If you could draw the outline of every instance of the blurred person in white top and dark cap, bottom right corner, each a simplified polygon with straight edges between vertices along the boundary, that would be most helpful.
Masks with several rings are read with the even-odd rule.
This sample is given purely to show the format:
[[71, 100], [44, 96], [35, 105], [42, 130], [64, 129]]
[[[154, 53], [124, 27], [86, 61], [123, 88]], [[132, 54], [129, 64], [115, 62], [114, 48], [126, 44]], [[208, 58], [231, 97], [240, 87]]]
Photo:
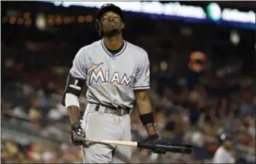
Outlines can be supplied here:
[[215, 152], [213, 163], [235, 163], [233, 158], [231, 136], [222, 134], [220, 137], [222, 145]]

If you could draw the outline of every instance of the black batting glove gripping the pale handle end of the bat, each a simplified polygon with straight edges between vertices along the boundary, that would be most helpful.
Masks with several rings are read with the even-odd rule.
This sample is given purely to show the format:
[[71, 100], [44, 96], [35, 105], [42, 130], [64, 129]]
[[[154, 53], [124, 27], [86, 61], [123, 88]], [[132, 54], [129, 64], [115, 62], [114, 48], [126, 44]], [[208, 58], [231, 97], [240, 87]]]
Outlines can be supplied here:
[[77, 122], [77, 123], [73, 123], [71, 125], [71, 141], [73, 144], [75, 145], [84, 145], [86, 144], [86, 142], [84, 141], [84, 139], [86, 138], [86, 134], [84, 132], [84, 130], [81, 127], [81, 123]]

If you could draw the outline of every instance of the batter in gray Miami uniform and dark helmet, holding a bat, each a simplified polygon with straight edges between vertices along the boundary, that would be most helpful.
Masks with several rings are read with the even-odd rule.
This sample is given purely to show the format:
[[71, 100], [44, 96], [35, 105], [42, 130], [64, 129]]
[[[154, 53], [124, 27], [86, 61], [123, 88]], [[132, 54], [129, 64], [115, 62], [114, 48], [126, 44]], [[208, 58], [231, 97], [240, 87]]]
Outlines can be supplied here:
[[[165, 143], [156, 132], [150, 97], [150, 62], [147, 52], [123, 39], [122, 10], [104, 4], [96, 13], [96, 30], [103, 39], [81, 47], [69, 72], [62, 104], [71, 122], [71, 139], [81, 145], [85, 163], [129, 162], [132, 149], [125, 146], [80, 142], [96, 140], [131, 141], [133, 102], [149, 141]], [[79, 120], [78, 97], [87, 84], [87, 108]], [[165, 153], [165, 150], [152, 150]]]

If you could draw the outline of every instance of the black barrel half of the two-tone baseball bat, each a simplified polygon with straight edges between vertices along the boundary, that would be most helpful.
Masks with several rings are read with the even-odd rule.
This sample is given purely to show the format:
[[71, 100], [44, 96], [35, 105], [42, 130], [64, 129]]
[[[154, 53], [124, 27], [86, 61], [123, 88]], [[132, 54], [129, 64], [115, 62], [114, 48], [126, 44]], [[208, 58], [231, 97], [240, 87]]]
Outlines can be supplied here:
[[144, 149], [163, 149], [165, 151], [191, 154], [193, 147], [191, 145], [183, 144], [154, 144], [151, 142], [138, 142], [138, 147]]

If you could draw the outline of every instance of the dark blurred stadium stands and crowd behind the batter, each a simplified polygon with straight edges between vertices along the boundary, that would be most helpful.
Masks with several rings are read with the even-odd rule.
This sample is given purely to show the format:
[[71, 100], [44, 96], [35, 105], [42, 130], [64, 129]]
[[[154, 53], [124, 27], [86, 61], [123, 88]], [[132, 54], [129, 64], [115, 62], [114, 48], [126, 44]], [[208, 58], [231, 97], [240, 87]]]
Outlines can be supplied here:
[[[82, 161], [79, 147], [69, 142], [69, 118], [60, 99], [78, 48], [99, 39], [93, 22], [96, 8], [57, 4], [1, 2], [2, 162]], [[123, 33], [149, 52], [151, 100], [160, 134], [193, 144], [195, 153], [154, 160], [149, 151], [134, 149], [133, 162], [211, 161], [224, 132], [233, 135], [236, 160], [252, 163], [255, 20], [245, 23], [241, 16], [225, 22], [209, 2], [181, 4], [201, 7], [206, 18], [125, 12]], [[253, 2], [217, 4], [221, 10], [255, 10]], [[185, 14], [182, 9], [178, 13]], [[84, 94], [80, 102], [86, 106]], [[133, 140], [145, 134], [134, 110]]]

